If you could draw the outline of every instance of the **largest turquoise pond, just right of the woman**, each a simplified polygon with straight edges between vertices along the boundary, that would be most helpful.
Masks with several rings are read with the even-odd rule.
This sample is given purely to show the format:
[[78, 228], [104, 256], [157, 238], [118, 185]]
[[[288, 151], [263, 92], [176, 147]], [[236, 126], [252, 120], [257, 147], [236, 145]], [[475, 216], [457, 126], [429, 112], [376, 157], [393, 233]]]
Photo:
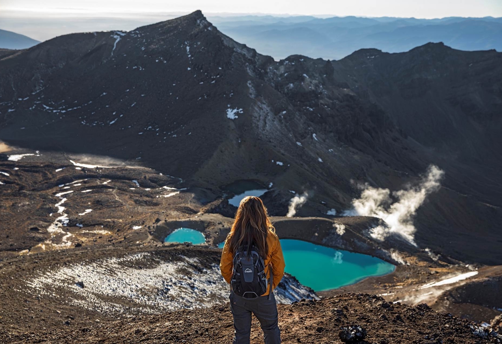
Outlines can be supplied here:
[[286, 272], [315, 291], [336, 289], [369, 276], [382, 276], [395, 266], [361, 253], [335, 250], [302, 240], [281, 239]]

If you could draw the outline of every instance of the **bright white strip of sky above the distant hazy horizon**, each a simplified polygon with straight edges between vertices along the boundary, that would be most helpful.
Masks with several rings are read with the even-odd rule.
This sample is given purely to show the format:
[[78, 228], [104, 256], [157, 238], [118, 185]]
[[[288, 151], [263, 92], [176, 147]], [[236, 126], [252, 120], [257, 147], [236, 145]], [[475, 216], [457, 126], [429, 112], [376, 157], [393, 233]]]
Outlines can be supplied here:
[[441, 18], [502, 16], [500, 0], [0, 0], [3, 9], [40, 12], [203, 12], [275, 13], [371, 17]]

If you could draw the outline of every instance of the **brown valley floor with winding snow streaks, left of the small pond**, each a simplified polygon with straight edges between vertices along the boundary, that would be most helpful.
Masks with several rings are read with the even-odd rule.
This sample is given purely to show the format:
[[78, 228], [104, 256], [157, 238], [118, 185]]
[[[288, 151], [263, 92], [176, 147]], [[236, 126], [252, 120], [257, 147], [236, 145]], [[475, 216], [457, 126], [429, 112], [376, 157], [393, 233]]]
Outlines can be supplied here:
[[134, 162], [94, 158], [90, 165], [84, 156], [63, 153], [10, 155], [22, 154], [31, 155], [17, 161], [0, 156], [4, 253], [147, 241], [150, 224], [194, 215], [204, 196], [215, 197], [209, 190], [199, 196], [179, 178]]

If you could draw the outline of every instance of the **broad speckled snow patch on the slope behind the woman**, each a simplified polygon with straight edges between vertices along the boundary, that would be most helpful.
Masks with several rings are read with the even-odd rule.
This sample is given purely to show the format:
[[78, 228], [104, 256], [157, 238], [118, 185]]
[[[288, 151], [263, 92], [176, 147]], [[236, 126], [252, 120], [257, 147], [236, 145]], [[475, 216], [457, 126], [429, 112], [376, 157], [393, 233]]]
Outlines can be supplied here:
[[[143, 266], [140, 268], [139, 266]], [[189, 274], [180, 271], [190, 271]], [[76, 285], [83, 282], [84, 288]], [[39, 270], [25, 279], [28, 293], [51, 297], [84, 309], [121, 318], [138, 313], [211, 307], [228, 302], [227, 283], [218, 264], [179, 255], [140, 252]], [[286, 274], [275, 290], [279, 303], [318, 299], [311, 289]], [[132, 300], [126, 306], [115, 300]]]

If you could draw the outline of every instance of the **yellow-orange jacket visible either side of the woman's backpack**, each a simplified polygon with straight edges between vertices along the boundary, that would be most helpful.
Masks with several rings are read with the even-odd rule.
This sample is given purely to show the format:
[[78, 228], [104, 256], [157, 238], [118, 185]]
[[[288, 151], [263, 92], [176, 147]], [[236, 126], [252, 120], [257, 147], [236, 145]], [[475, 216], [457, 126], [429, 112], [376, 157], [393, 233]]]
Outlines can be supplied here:
[[[267, 278], [270, 278], [270, 264], [272, 264], [272, 272], [274, 274], [274, 280], [272, 282], [272, 288], [275, 289], [281, 278], [284, 275], [284, 267], [286, 263], [284, 262], [284, 256], [282, 254], [281, 242], [276, 234], [270, 234], [267, 236], [267, 243], [269, 244], [269, 253], [267, 258], [264, 259], [265, 262], [265, 272]], [[233, 253], [230, 252], [228, 247], [228, 242], [225, 242], [223, 247], [223, 252], [221, 253], [220, 270], [221, 275], [227, 283], [230, 283], [232, 279], [232, 269], [233, 269]], [[262, 296], [268, 295], [270, 288]]]

